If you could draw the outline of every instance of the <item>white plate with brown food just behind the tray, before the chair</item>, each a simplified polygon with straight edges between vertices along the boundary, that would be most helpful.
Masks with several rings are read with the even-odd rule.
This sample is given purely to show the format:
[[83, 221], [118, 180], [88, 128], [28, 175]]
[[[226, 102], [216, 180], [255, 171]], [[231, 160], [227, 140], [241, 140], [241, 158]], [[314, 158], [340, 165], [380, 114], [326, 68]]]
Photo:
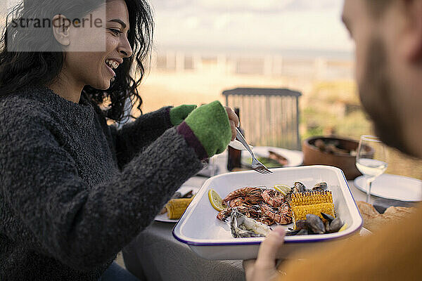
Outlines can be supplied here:
[[[252, 149], [253, 153], [256, 157], [268, 157], [269, 156], [269, 150], [274, 151], [276, 153], [279, 153], [279, 155], [285, 157], [287, 159], [287, 165], [283, 167], [288, 166], [300, 166], [303, 162], [303, 152], [298, 150], [288, 150], [285, 148], [274, 148], [271, 146], [255, 146], [255, 148]], [[250, 166], [251, 157], [248, 151], [242, 152], [242, 164], [244, 166]]]

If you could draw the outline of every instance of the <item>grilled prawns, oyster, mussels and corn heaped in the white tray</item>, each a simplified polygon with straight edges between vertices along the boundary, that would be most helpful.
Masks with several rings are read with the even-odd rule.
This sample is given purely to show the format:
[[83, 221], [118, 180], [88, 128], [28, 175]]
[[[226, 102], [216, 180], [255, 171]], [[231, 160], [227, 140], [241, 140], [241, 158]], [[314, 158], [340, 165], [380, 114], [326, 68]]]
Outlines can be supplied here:
[[247, 186], [230, 192], [221, 203], [224, 209], [217, 218], [229, 221], [230, 217], [231, 234], [236, 238], [265, 236], [274, 223], [293, 223], [286, 235], [334, 233], [343, 226], [335, 218], [333, 195], [326, 183], [316, 183], [312, 189], [300, 182], [292, 188]]

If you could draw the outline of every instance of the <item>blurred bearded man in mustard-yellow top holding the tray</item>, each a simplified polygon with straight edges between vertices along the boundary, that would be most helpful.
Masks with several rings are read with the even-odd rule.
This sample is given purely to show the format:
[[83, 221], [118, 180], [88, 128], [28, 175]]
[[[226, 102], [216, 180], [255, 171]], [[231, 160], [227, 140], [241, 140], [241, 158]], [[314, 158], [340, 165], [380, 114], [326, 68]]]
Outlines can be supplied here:
[[[422, 157], [422, 0], [345, 0], [343, 22], [356, 44], [359, 96], [377, 135]], [[276, 228], [257, 260], [244, 262], [248, 281], [421, 278], [421, 205], [375, 235], [315, 250], [300, 262], [293, 256], [277, 270], [283, 237], [284, 231]]]

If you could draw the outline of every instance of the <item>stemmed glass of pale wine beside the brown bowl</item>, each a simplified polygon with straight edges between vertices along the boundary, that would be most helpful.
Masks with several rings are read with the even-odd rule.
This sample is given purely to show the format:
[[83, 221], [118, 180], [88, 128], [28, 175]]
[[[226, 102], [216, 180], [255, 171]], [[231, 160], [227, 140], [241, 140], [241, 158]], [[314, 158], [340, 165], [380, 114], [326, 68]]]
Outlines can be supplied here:
[[369, 203], [371, 197], [373, 181], [387, 169], [387, 158], [387, 148], [377, 136], [361, 136], [356, 154], [356, 167], [366, 178], [366, 203]]

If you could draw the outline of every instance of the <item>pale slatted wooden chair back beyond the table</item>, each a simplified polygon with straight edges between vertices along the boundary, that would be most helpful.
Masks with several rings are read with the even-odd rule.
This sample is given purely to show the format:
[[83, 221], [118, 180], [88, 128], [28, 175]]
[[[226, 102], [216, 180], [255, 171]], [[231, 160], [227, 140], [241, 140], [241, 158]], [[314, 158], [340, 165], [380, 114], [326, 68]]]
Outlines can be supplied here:
[[246, 140], [255, 146], [301, 150], [299, 97], [289, 89], [236, 88], [223, 91], [226, 105], [238, 107]]

